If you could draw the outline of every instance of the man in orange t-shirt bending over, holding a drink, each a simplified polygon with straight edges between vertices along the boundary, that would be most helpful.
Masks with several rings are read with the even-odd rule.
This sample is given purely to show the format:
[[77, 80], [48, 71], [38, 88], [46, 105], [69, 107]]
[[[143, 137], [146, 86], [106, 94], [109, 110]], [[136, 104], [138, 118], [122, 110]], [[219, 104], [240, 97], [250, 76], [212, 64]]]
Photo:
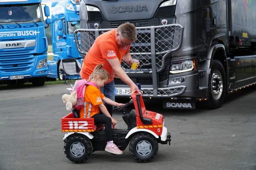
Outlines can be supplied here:
[[[112, 72], [130, 86], [130, 92], [139, 92], [140, 90], [128, 75], [121, 68], [122, 60], [132, 65], [132, 57], [130, 55], [130, 45], [137, 39], [137, 30], [132, 23], [124, 23], [119, 25], [117, 29], [113, 29], [103, 33], [96, 38], [94, 44], [84, 58], [84, 63], [80, 71], [82, 79], [89, 79], [90, 74], [97, 64], [104, 64], [103, 68], [108, 71], [110, 80], [100, 88], [100, 91], [111, 100], [115, 101], [115, 85]], [[138, 63], [139, 65], [139, 63]]]

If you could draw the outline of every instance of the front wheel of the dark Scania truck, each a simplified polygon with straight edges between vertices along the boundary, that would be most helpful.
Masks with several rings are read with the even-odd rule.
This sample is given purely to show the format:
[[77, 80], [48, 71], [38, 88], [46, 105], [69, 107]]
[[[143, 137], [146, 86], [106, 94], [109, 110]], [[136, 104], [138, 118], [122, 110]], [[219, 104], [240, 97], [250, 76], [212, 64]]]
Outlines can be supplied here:
[[218, 60], [212, 61], [210, 72], [210, 87], [207, 105], [211, 109], [219, 108], [225, 98], [226, 93], [226, 76], [225, 71]]

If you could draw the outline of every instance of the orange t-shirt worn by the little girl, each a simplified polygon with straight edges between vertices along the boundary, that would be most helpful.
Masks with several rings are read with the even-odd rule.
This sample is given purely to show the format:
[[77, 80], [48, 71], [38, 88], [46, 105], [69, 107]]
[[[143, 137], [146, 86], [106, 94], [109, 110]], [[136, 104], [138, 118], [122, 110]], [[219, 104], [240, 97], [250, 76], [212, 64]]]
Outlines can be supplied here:
[[80, 109], [80, 118], [90, 118], [100, 112], [99, 104], [102, 104], [102, 98], [105, 96], [100, 92], [99, 88], [87, 84], [84, 92], [84, 102], [86, 103], [86, 114], [84, 116], [84, 107]]

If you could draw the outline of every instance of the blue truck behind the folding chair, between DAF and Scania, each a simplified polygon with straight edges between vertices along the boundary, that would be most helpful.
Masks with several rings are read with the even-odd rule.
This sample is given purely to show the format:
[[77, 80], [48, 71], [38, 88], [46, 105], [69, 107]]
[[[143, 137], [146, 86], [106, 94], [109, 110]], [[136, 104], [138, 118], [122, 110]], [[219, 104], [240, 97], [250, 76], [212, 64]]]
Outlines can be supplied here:
[[81, 61], [76, 49], [74, 31], [80, 28], [79, 0], [52, 2], [52, 51], [53, 61], [48, 61], [49, 78], [63, 79], [60, 61], [74, 58]]

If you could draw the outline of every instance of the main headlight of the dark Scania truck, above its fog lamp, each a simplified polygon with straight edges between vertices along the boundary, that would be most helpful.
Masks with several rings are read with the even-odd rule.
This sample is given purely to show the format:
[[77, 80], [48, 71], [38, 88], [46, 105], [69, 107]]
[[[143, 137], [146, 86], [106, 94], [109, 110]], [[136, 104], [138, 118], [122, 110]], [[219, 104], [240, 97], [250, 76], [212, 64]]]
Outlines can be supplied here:
[[180, 73], [196, 70], [195, 60], [185, 60], [171, 63], [170, 73]]

